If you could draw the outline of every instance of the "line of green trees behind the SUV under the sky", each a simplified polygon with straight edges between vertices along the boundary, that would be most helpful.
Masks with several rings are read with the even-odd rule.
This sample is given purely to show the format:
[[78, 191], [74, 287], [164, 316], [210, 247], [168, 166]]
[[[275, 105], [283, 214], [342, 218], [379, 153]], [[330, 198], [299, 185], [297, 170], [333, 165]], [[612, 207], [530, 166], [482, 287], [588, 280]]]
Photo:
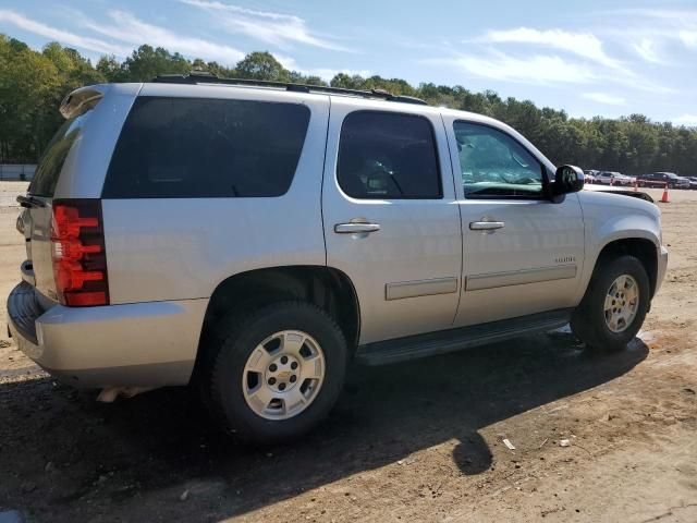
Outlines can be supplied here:
[[[318, 76], [289, 71], [269, 52], [252, 52], [227, 68], [144, 45], [123, 61], [101, 57], [93, 63], [74, 49], [51, 42], [39, 51], [0, 34], [0, 162], [35, 162], [62, 122], [58, 107], [72, 89], [103, 82], [147, 82], [159, 74], [206, 71], [219, 76], [328, 85]], [[501, 98], [492, 90], [375, 75], [337, 74], [332, 87], [386, 89], [501, 120], [533, 142], [555, 163], [640, 174], [672, 171], [697, 175], [697, 129], [652, 122], [643, 114], [620, 119], [570, 118], [563, 110], [530, 100]]]

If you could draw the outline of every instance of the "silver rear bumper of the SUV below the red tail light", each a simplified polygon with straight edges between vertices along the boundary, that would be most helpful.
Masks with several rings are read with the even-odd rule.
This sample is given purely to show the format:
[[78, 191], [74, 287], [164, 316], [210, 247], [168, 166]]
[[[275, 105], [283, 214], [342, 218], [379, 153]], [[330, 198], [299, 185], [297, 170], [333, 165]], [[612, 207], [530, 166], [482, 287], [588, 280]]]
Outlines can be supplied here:
[[8, 299], [12, 337], [28, 357], [76, 387], [188, 382], [208, 300], [44, 311], [22, 282]]

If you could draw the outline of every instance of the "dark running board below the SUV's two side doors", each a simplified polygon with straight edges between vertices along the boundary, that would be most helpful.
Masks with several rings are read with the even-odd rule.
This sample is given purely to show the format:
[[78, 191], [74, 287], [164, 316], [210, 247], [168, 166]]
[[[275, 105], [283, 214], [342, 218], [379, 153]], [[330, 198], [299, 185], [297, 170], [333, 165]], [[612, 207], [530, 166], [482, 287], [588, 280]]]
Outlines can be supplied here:
[[573, 311], [573, 308], [561, 308], [488, 324], [367, 343], [358, 345], [356, 361], [365, 365], [384, 365], [486, 345], [522, 335], [546, 332], [568, 324]]

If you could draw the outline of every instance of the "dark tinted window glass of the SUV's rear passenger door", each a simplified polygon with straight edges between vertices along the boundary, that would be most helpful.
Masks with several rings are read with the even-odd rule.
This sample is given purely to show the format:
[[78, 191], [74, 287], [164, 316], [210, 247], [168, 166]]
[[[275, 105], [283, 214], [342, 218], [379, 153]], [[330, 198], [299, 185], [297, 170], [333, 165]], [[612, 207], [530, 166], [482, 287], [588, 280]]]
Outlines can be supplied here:
[[337, 177], [354, 198], [442, 197], [430, 122], [388, 112], [348, 114], [341, 127]]

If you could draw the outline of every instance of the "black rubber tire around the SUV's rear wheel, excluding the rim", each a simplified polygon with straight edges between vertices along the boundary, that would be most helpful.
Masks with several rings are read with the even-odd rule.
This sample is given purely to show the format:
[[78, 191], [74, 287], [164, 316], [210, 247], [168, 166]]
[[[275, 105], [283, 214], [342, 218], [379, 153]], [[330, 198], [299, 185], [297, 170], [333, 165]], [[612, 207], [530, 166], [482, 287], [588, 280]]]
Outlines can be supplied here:
[[[207, 388], [216, 421], [240, 440], [274, 443], [297, 438], [314, 428], [333, 408], [343, 387], [347, 362], [346, 340], [337, 323], [319, 307], [305, 302], [281, 302], [222, 319], [218, 346], [211, 358]], [[243, 392], [243, 374], [256, 346], [282, 330], [311, 336], [325, 356], [325, 378], [313, 402], [288, 419], [268, 419], [255, 413]]]

